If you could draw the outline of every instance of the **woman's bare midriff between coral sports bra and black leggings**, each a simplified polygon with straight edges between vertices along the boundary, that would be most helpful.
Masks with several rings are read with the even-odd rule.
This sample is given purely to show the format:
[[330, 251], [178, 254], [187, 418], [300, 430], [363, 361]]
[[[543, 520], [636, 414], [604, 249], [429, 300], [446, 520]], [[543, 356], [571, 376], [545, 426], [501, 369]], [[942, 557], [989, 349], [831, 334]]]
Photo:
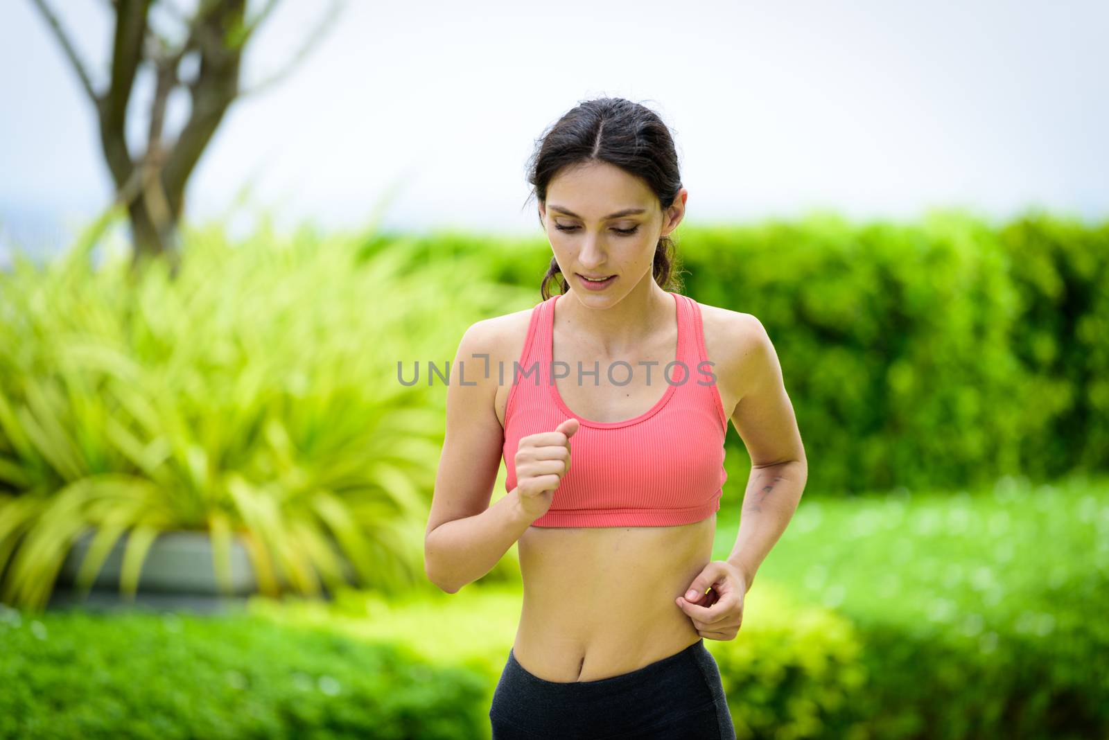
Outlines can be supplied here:
[[712, 558], [716, 515], [664, 527], [536, 527], [520, 536], [512, 655], [548, 681], [620, 676], [701, 635], [674, 599]]

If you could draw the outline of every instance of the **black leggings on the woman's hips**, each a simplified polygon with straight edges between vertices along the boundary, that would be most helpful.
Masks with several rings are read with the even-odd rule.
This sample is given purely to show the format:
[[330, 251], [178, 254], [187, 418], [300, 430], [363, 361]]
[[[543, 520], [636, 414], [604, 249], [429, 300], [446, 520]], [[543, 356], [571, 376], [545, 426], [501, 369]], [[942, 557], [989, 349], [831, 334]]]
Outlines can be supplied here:
[[596, 681], [548, 681], [512, 650], [489, 708], [492, 740], [735, 740], [720, 668], [699, 639], [681, 652]]

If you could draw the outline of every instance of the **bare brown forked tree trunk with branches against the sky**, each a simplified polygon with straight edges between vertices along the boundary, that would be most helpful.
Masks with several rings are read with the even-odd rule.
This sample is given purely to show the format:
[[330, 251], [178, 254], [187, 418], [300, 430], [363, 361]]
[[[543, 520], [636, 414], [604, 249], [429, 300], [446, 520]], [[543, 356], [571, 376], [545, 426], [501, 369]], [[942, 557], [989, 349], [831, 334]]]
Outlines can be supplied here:
[[[296, 54], [276, 74], [245, 92], [240, 80], [244, 48], [281, 0], [265, 0], [250, 18], [247, 0], [195, 0], [187, 14], [176, 0], [101, 0], [114, 14], [110, 76], [102, 94], [93, 89], [88, 69], [49, 1], [32, 0], [92, 99], [104, 160], [116, 188], [114, 202], [126, 206], [131, 220], [135, 261], [165, 254], [175, 264], [185, 186], [228, 107], [238, 97], [256, 94], [288, 75], [323, 40], [347, 0], [332, 0]], [[184, 80], [181, 63], [192, 54], [197, 56], [196, 72]], [[126, 137], [129, 110], [133, 107], [129, 103], [144, 63], [154, 68], [155, 89], [145, 151], [132, 155]], [[165, 142], [170, 97], [177, 89], [189, 92], [189, 119], [176, 138]]]

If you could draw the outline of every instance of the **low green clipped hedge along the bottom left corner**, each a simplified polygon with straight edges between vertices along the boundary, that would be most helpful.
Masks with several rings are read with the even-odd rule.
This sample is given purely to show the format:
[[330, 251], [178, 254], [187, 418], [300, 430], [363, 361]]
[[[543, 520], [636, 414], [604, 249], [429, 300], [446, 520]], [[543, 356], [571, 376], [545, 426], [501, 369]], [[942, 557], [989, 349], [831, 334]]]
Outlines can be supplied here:
[[[0, 607], [3, 608], [3, 607]], [[0, 618], [0, 737], [478, 737], [486, 679], [265, 619]]]

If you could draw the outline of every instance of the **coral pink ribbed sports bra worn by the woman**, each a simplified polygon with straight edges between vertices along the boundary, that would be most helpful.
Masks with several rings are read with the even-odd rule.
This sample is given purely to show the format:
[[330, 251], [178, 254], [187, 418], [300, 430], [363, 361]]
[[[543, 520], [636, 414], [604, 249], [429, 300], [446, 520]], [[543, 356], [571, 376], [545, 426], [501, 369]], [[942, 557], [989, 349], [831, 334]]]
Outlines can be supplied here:
[[[650, 367], [650, 382], [667, 383], [649, 410], [624, 421], [599, 422], [579, 417], [562, 401], [552, 380], [554, 295], [531, 310], [519, 368], [505, 408], [502, 459], [506, 491], [516, 487], [516, 451], [529, 434], [553, 431], [573, 418], [581, 426], [570, 440], [571, 464], [550, 510], [535, 520], [540, 527], [674, 526], [700, 522], [720, 508], [728, 472], [724, 438], [728, 417], [713, 367], [706, 363], [701, 307], [676, 292], [678, 353], [673, 361]], [[702, 364], [704, 362], [704, 364]], [[614, 366], [615, 380], [628, 366]], [[645, 366], [634, 369], [641, 373]], [[563, 382], [578, 382], [578, 368], [560, 361], [553, 368]], [[597, 374], [584, 374], [597, 370]], [[599, 382], [609, 368], [582, 363], [582, 382]]]

